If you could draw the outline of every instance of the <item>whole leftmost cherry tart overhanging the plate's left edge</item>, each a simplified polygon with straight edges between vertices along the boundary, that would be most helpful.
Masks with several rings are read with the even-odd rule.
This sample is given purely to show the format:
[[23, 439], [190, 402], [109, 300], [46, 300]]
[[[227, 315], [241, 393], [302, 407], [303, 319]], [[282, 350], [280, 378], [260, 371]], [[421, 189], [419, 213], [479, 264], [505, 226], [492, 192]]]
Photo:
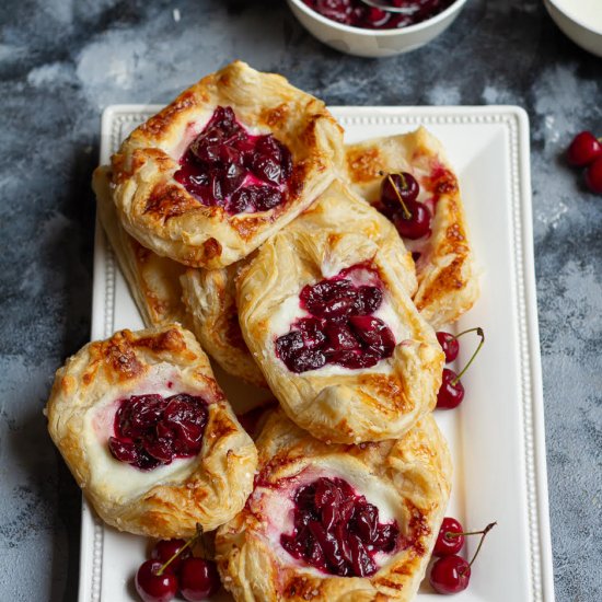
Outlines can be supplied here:
[[181, 537], [234, 517], [257, 452], [194, 336], [172, 325], [90, 343], [57, 371], [48, 430], [100, 517]]

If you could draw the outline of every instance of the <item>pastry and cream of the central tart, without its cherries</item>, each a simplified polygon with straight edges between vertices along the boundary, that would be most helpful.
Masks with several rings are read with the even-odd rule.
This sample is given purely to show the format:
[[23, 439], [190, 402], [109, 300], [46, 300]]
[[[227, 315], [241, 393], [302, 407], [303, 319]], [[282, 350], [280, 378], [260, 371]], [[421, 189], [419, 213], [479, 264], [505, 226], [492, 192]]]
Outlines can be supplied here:
[[[392, 357], [361, 370], [326, 364], [289, 371], [275, 348], [294, 319], [287, 308], [298, 310], [305, 285], [364, 262], [385, 289], [383, 305], [396, 331]], [[319, 439], [357, 443], [400, 437], [435, 407], [443, 354], [409, 298], [413, 281], [413, 266], [391, 224], [340, 182], [262, 246], [238, 279], [239, 320], [291, 420]]]

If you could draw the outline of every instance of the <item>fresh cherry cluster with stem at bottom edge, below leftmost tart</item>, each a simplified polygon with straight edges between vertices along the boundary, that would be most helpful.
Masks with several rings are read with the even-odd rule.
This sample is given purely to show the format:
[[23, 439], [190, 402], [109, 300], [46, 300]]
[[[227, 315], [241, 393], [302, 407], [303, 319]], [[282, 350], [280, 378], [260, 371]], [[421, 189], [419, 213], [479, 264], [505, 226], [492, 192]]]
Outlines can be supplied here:
[[202, 531], [188, 540], [162, 540], [136, 574], [136, 591], [143, 602], [170, 602], [180, 591], [188, 602], [206, 600], [221, 586], [216, 563], [193, 556], [192, 547], [202, 541]]

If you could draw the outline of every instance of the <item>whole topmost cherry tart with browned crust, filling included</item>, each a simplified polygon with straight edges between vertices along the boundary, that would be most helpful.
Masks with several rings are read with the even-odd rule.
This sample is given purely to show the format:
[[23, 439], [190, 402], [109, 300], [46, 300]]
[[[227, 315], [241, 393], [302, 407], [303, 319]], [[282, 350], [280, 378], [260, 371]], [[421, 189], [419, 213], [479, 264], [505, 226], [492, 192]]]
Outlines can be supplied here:
[[218, 268], [294, 219], [343, 169], [324, 103], [232, 62], [136, 129], [113, 159], [126, 230], [159, 255]]

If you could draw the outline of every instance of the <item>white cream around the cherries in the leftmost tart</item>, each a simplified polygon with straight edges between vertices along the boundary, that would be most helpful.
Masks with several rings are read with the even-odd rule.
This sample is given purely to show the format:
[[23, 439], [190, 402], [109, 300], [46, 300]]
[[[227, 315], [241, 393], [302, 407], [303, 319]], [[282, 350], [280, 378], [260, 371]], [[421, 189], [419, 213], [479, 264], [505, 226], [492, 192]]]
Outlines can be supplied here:
[[169, 397], [177, 393], [194, 394], [178, 380], [173, 366], [159, 363], [143, 382], [136, 383], [135, 387], [117, 398], [114, 392], [108, 393], [86, 412], [82, 437], [90, 463], [91, 486], [107, 491], [119, 502], [137, 497], [154, 485], [185, 479], [194, 472], [198, 456], [176, 459], [152, 471], [140, 471], [113, 458], [108, 449], [108, 438], [115, 435], [115, 414], [123, 400], [131, 395], [159, 394]]

